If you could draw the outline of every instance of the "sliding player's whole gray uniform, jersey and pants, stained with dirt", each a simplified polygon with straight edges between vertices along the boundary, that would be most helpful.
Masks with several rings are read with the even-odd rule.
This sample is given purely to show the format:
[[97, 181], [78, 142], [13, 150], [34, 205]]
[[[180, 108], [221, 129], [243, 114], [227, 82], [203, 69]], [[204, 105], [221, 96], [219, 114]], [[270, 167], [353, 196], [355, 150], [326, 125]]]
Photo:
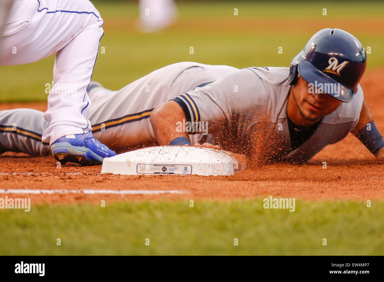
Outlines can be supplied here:
[[[246, 68], [176, 63], [153, 71], [119, 91], [90, 91], [89, 111], [97, 139], [117, 152], [157, 145], [149, 121], [152, 109], [170, 99], [182, 101], [191, 122], [206, 122], [208, 135], [193, 135], [191, 143], [210, 142], [244, 153], [254, 132], [261, 152], [272, 160], [309, 160], [328, 144], [343, 139], [357, 124], [362, 107], [361, 87], [351, 102], [325, 116], [313, 135], [292, 149], [286, 107], [289, 68]], [[214, 81], [214, 82], [212, 82]], [[212, 82], [204, 87], [207, 82]], [[196, 88], [197, 87], [197, 88]], [[176, 98], [175, 98], [176, 97]], [[41, 142], [48, 123], [32, 109], [0, 111], [0, 150], [50, 154]], [[199, 128], [199, 127], [197, 127]]]

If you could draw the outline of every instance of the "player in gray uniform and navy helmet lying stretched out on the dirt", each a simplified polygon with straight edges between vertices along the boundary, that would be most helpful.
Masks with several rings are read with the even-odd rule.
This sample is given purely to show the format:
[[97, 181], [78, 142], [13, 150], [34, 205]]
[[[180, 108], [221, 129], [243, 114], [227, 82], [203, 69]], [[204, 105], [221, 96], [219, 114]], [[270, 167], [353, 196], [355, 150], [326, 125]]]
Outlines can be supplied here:
[[[183, 62], [119, 91], [92, 82], [89, 120], [95, 137], [118, 152], [194, 144], [253, 160], [303, 162], [352, 132], [384, 162], [384, 140], [358, 84], [365, 68], [361, 43], [327, 28], [290, 68]], [[0, 111], [0, 150], [48, 155], [48, 144], [41, 142], [47, 126], [37, 110]]]

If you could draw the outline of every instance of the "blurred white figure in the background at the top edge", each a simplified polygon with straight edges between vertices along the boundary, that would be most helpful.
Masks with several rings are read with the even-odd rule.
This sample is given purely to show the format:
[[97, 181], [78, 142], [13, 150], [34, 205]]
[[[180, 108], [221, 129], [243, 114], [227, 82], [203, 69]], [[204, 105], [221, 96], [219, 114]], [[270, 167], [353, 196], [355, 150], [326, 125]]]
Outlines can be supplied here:
[[142, 32], [156, 32], [170, 26], [177, 17], [173, 0], [140, 0], [140, 23]]

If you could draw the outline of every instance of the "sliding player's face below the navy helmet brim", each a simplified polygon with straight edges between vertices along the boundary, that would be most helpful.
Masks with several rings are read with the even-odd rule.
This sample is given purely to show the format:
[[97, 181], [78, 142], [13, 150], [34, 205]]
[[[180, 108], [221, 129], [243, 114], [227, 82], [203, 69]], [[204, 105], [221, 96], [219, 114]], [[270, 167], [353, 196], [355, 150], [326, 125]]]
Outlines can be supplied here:
[[298, 81], [293, 87], [293, 97], [295, 98], [300, 114], [306, 120], [319, 120], [324, 117], [324, 115], [333, 113], [341, 105], [342, 101], [329, 94], [310, 91], [308, 84], [305, 79], [299, 76]]

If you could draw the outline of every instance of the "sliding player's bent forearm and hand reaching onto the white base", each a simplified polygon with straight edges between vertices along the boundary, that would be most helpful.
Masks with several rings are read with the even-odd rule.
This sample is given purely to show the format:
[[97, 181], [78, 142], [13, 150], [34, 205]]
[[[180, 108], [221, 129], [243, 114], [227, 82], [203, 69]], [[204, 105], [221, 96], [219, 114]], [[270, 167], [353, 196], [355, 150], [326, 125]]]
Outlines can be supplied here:
[[[188, 132], [180, 130], [185, 124], [184, 110], [175, 101], [168, 101], [157, 106], [151, 113], [149, 120], [159, 145], [185, 145], [190, 146]], [[184, 120], [184, 122], [183, 122]], [[181, 125], [181, 126], [180, 126]], [[196, 147], [209, 147], [219, 149], [209, 143], [194, 144]]]

